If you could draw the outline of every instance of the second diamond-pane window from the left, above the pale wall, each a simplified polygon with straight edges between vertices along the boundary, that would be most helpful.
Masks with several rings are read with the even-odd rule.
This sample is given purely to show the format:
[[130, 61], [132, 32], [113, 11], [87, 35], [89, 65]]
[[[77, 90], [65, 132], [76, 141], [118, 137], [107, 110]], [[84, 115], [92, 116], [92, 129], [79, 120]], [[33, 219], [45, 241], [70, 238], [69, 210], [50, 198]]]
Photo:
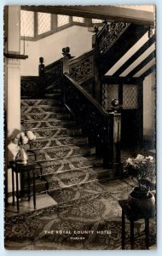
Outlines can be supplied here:
[[50, 31], [50, 14], [38, 13], [38, 35]]

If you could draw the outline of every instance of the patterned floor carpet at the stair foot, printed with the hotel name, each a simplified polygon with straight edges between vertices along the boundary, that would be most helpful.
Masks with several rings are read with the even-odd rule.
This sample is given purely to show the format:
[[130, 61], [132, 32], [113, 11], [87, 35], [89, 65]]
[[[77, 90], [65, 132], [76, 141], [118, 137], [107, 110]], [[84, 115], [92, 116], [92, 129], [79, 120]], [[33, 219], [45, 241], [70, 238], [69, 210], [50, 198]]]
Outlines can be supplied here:
[[[57, 206], [6, 218], [5, 247], [10, 250], [120, 250], [121, 208], [118, 200], [127, 198], [131, 184], [116, 180], [107, 188], [100, 185], [98, 190], [94, 184], [92, 187], [84, 184], [82, 191], [87, 195], [84, 198], [79, 189], [69, 190], [67, 197]], [[61, 194], [55, 196], [61, 197]], [[67, 202], [68, 196], [78, 200]], [[155, 231], [152, 219], [150, 246], [156, 243]], [[146, 249], [142, 220], [135, 223], [135, 248]], [[125, 249], [130, 249], [128, 220]]]

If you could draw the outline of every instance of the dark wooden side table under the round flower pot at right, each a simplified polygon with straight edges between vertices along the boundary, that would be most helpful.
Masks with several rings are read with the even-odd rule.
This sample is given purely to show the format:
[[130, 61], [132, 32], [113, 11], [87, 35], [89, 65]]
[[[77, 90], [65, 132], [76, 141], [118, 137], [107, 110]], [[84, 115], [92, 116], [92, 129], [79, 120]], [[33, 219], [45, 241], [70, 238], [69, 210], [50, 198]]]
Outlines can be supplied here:
[[140, 218], [145, 220], [145, 235], [146, 235], [146, 247], [149, 248], [149, 218], [155, 216], [155, 207], [150, 209], [149, 212], [132, 207], [130, 201], [119, 200], [119, 206], [122, 208], [122, 250], [124, 250], [125, 241], [125, 216], [130, 220], [130, 249], [134, 249], [134, 222]]

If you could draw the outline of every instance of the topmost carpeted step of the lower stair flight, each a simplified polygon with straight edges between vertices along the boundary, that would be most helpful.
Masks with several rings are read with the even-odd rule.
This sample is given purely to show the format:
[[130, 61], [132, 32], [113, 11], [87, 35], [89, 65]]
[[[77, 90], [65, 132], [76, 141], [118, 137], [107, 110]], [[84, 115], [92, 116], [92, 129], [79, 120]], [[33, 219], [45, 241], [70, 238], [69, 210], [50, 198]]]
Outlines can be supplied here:
[[21, 100], [20, 101], [20, 107], [41, 107], [41, 106], [60, 106], [61, 101], [55, 101], [55, 100], [47, 100], [47, 99], [26, 99], [26, 100]]

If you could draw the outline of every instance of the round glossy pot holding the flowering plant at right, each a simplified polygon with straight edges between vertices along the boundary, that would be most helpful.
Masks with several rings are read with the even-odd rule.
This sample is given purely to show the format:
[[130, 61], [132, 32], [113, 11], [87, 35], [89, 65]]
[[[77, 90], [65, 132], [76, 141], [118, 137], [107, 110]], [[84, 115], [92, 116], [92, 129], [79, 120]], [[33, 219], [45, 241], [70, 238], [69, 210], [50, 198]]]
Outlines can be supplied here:
[[136, 212], [155, 212], [155, 197], [148, 189], [141, 190], [139, 187], [134, 188], [128, 200]]

